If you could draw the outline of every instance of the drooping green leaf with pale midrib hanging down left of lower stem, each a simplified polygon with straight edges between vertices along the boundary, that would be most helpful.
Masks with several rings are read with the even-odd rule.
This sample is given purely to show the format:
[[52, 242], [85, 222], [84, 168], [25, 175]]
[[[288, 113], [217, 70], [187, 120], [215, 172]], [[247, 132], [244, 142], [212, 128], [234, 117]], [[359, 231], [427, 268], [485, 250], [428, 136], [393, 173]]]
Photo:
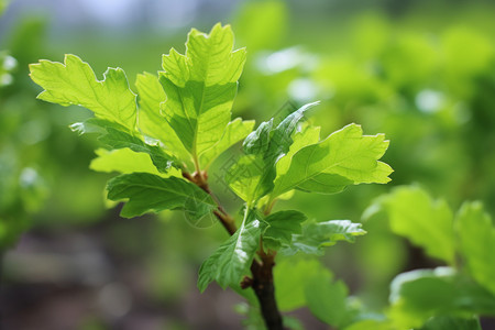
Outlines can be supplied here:
[[212, 280], [226, 288], [238, 285], [248, 274], [260, 246], [260, 235], [265, 224], [246, 209], [238, 231], [221, 244], [199, 268], [198, 288], [202, 293]]

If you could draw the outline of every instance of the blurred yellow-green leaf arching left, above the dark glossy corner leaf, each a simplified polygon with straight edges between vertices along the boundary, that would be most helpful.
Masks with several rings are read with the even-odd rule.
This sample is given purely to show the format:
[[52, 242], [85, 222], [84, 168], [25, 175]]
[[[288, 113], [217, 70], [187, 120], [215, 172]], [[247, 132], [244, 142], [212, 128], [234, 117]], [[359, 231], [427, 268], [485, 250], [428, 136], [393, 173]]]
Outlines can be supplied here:
[[442, 199], [433, 200], [419, 187], [398, 187], [372, 206], [386, 211], [391, 229], [449, 264], [454, 262], [452, 211]]

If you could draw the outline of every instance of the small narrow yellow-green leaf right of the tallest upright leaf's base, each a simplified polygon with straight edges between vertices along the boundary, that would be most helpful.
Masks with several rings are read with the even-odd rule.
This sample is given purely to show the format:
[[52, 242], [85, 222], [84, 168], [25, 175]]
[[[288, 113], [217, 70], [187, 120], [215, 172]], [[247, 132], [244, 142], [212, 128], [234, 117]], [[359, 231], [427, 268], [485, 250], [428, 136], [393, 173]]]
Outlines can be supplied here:
[[222, 138], [210, 148], [206, 150], [200, 156], [199, 162], [202, 164], [204, 168], [208, 168], [209, 165], [226, 150], [231, 147], [233, 144], [238, 143], [244, 139], [253, 130], [253, 120], [242, 120], [240, 118], [231, 121], [223, 133]]

